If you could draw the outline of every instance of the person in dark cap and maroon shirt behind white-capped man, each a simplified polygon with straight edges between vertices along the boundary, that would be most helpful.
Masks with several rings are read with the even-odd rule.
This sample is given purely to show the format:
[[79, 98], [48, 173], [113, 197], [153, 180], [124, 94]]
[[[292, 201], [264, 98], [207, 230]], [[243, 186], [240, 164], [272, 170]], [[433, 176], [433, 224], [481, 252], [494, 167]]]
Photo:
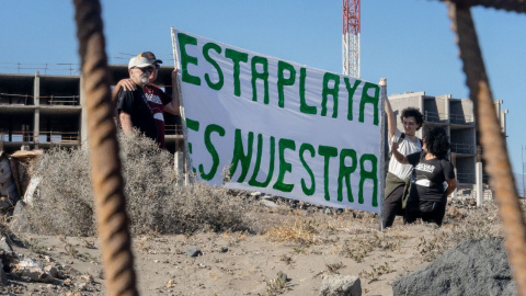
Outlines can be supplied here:
[[[137, 57], [144, 57], [149, 60], [155, 66], [153, 71], [149, 76], [149, 83], [144, 87], [144, 92], [150, 106], [151, 112], [153, 113], [153, 118], [156, 119], [158, 127], [158, 138], [157, 143], [160, 148], [165, 148], [164, 145], [164, 111], [173, 115], [180, 115], [180, 104], [179, 104], [179, 90], [178, 90], [178, 69], [175, 68], [172, 71], [172, 95], [170, 96], [163, 92], [159, 87], [152, 82], [157, 80], [159, 72], [160, 64], [162, 60], [157, 59], [156, 55], [151, 52], [144, 52]], [[134, 91], [136, 89], [136, 83], [132, 79], [122, 79], [118, 81], [117, 86], [113, 90], [113, 96], [122, 89]]]

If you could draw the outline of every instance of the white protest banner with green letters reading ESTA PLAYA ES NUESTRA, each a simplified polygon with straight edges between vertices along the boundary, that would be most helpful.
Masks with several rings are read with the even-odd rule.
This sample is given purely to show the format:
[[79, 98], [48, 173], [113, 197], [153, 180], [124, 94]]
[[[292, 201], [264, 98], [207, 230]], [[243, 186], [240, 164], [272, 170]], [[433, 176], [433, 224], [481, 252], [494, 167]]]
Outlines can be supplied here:
[[172, 27], [194, 172], [231, 189], [380, 213], [380, 88]]

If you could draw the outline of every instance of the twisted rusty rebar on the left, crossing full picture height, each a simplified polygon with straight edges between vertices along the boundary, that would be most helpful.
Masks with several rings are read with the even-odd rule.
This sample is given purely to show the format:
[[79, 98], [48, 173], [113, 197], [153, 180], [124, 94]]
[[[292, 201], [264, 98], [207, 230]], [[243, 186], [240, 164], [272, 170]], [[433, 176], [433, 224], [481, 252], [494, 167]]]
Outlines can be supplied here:
[[107, 295], [138, 295], [111, 105], [101, 4], [98, 0], [73, 0], [73, 3], [106, 292]]

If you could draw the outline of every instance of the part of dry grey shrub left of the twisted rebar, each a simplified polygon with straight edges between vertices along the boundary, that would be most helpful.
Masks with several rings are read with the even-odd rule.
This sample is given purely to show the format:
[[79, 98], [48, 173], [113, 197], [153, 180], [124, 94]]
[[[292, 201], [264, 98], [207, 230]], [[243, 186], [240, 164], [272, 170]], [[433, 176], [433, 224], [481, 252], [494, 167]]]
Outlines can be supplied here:
[[93, 235], [93, 197], [85, 149], [52, 149], [42, 156], [34, 177], [39, 196], [27, 206], [27, 221], [43, 234]]

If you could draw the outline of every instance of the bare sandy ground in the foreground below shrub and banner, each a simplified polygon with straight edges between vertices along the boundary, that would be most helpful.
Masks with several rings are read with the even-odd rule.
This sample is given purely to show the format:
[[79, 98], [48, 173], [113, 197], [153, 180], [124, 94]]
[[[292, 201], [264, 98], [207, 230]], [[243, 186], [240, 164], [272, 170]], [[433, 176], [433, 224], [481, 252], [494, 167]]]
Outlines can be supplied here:
[[[359, 276], [363, 295], [392, 295], [397, 277], [428, 264], [425, 255], [433, 246], [466, 223], [446, 218], [437, 228], [403, 226], [397, 218], [393, 228], [379, 231], [377, 216], [356, 213], [293, 212], [281, 205], [259, 213], [262, 224], [283, 226], [266, 235], [134, 237], [140, 295], [319, 295], [323, 277], [334, 274]], [[8, 275], [5, 293], [104, 295], [96, 238], [28, 234], [18, 238], [25, 247], [14, 243], [15, 252], [43, 265], [54, 262], [64, 275], [52, 284]], [[202, 255], [190, 257], [186, 249], [191, 246]]]

